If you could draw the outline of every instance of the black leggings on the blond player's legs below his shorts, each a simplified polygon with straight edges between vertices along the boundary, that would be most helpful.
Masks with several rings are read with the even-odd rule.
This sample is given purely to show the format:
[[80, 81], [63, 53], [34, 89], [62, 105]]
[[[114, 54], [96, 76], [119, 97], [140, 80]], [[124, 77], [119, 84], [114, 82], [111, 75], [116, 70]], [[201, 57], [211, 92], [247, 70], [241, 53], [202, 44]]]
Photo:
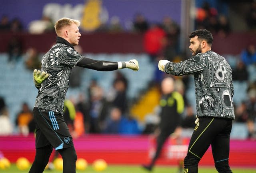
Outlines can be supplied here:
[[[76, 173], [76, 151], [74, 146], [57, 150], [63, 159], [63, 173]], [[29, 173], [42, 173], [46, 167], [52, 146], [47, 145], [36, 149], [36, 156]]]

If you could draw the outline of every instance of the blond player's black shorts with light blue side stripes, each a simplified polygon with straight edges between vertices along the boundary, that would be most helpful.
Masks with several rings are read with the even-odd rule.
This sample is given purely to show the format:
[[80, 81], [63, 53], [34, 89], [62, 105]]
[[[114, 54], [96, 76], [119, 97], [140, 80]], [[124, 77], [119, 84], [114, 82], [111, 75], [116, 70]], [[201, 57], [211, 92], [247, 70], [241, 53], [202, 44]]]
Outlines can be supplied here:
[[55, 149], [74, 146], [68, 126], [62, 114], [34, 108], [36, 123], [36, 148], [52, 145]]

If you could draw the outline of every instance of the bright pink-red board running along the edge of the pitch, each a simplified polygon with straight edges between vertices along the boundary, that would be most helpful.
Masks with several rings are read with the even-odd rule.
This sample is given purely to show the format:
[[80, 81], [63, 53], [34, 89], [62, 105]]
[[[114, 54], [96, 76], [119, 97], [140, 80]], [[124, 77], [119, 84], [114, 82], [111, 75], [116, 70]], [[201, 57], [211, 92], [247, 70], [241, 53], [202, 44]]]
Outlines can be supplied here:
[[[19, 157], [33, 161], [35, 155], [34, 135], [2, 136], [0, 151], [11, 162]], [[188, 147], [188, 138], [169, 140], [164, 145], [158, 159], [159, 165], [176, 165], [183, 160]], [[78, 158], [84, 158], [88, 163], [95, 159], [105, 159], [108, 164], [142, 164], [148, 163], [154, 153], [155, 139], [151, 136], [116, 136], [116, 135], [84, 135], [74, 139]], [[256, 141], [231, 140], [230, 165], [236, 167], [256, 166]], [[203, 156], [200, 165], [214, 165], [211, 148]]]

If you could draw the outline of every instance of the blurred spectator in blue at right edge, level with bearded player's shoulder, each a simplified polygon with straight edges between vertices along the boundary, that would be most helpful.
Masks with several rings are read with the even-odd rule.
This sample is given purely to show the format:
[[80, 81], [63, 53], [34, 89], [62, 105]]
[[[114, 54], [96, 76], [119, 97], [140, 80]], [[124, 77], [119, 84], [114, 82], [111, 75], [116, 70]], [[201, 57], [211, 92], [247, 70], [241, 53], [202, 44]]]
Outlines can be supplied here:
[[256, 47], [254, 44], [249, 44], [241, 53], [242, 62], [248, 66], [256, 63]]

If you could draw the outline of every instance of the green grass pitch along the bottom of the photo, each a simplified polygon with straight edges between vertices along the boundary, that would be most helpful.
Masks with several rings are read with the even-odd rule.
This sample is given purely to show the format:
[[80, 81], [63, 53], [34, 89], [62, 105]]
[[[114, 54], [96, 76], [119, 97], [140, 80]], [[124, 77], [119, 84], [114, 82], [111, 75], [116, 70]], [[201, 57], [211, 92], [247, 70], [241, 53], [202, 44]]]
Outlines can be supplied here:
[[[233, 173], [256, 173], [256, 169], [249, 168], [233, 168]], [[0, 170], [0, 173], [28, 173], [28, 170], [19, 171], [14, 164], [11, 165], [10, 169]], [[62, 171], [56, 170], [45, 170], [44, 173], [62, 173]], [[96, 172], [89, 165], [85, 171], [76, 171], [76, 173], [100, 173]], [[140, 165], [108, 165], [107, 169], [101, 173], [150, 173]], [[178, 173], [178, 167], [158, 166], [154, 167], [152, 173]], [[198, 173], [217, 173], [214, 167], [200, 167]]]

